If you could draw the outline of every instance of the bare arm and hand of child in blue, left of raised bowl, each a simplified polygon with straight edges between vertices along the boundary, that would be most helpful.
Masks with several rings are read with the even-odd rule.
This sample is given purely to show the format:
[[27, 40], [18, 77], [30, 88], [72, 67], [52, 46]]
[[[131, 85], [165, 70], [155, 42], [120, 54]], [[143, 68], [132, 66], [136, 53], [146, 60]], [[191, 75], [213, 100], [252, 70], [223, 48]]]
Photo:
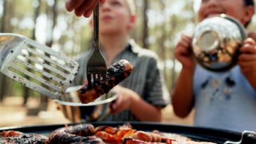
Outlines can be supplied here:
[[182, 35], [174, 55], [182, 64], [182, 70], [172, 91], [172, 105], [175, 114], [186, 117], [193, 107], [193, 72], [196, 63], [191, 58], [191, 37]]

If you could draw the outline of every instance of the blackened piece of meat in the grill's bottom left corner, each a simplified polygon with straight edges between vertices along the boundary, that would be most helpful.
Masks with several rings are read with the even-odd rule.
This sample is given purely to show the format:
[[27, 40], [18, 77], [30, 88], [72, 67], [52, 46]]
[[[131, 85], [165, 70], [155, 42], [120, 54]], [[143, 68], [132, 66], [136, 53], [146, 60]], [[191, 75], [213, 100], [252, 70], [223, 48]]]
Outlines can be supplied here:
[[6, 138], [0, 138], [1, 144], [50, 144], [48, 138], [41, 137], [36, 133], [21, 133], [16, 136], [9, 136]]

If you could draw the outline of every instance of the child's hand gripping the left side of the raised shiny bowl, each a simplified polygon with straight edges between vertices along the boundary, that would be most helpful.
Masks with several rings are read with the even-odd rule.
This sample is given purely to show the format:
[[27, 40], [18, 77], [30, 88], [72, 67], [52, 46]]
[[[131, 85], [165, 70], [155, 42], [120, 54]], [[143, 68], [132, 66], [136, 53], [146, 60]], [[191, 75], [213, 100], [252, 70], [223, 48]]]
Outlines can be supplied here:
[[179, 60], [183, 67], [187, 68], [194, 68], [196, 66], [196, 63], [191, 58], [191, 42], [191, 37], [182, 34], [181, 40], [174, 49], [174, 55], [177, 60]]

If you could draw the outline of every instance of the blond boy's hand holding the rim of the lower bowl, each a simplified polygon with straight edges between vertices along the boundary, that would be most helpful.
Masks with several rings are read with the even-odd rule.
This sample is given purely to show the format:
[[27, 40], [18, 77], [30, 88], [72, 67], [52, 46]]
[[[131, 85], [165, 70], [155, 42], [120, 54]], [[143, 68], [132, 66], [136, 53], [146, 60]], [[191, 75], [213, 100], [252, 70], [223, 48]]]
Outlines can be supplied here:
[[117, 92], [118, 97], [111, 105], [112, 114], [122, 112], [129, 108], [134, 98], [140, 98], [139, 95], [131, 89], [124, 88], [120, 85], [115, 86], [113, 89]]

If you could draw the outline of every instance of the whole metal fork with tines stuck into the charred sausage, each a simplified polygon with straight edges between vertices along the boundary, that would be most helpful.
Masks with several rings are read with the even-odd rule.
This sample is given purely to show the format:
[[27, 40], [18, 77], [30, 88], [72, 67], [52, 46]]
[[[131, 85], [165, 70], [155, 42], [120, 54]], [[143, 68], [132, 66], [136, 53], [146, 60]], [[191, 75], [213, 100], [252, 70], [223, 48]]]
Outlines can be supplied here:
[[94, 50], [87, 62], [87, 79], [89, 86], [92, 84], [91, 74], [93, 74], [94, 77], [94, 84], [96, 84], [96, 74], [98, 74], [98, 81], [101, 81], [101, 76], [103, 77], [103, 84], [105, 84], [107, 80], [107, 65], [101, 53], [98, 41], [98, 13], [99, 4], [94, 8]]

